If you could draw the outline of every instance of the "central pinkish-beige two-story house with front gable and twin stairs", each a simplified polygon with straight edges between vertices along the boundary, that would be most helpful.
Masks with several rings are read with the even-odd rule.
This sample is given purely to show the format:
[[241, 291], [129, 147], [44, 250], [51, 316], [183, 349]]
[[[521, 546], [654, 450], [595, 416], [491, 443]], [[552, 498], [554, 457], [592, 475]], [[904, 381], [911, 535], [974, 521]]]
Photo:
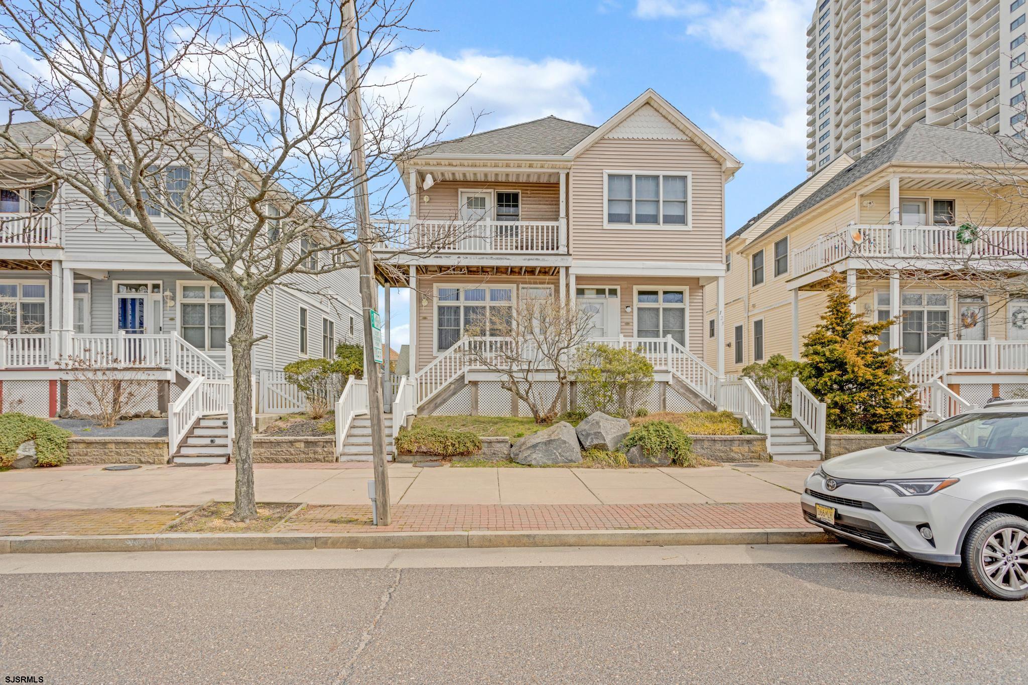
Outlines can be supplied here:
[[[703, 288], [725, 276], [725, 184], [740, 166], [653, 90], [599, 126], [549, 116], [398, 160], [410, 216], [390, 222], [377, 273], [410, 289], [418, 411], [518, 413], [454, 355], [473, 318], [540, 296], [573, 300], [594, 339], [649, 341], [654, 409], [713, 404], [724, 359], [704, 349]], [[470, 230], [417, 254], [454, 225]]]

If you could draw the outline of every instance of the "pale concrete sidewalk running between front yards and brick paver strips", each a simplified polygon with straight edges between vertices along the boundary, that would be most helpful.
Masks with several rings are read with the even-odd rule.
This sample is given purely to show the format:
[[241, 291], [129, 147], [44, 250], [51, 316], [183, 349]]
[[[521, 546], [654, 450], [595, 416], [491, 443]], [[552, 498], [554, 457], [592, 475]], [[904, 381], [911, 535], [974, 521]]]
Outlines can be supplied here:
[[[703, 468], [420, 468], [390, 464], [399, 505], [798, 503], [813, 470], [776, 463]], [[370, 464], [258, 464], [257, 499], [367, 505]], [[192, 505], [231, 500], [232, 465], [62, 466], [0, 473], [0, 510]]]

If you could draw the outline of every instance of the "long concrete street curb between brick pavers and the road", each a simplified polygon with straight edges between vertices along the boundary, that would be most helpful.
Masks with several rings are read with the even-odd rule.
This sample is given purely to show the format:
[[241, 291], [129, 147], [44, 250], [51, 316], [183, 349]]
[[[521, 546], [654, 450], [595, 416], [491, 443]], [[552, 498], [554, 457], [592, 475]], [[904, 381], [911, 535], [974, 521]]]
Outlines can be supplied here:
[[690, 544], [821, 544], [809, 528], [686, 530], [429, 531], [419, 533], [157, 533], [0, 537], [0, 555], [72, 551], [273, 549], [440, 549], [458, 547], [611, 547]]

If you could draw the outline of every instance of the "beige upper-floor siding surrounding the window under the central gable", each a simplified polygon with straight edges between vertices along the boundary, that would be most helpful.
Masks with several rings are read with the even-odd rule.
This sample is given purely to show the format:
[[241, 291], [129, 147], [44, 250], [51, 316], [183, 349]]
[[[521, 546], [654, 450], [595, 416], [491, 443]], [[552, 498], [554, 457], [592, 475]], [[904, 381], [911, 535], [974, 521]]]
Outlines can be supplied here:
[[[604, 169], [690, 172], [692, 230], [604, 228]], [[572, 167], [571, 240], [576, 259], [721, 263], [723, 208], [721, 163], [692, 141], [603, 139]]]

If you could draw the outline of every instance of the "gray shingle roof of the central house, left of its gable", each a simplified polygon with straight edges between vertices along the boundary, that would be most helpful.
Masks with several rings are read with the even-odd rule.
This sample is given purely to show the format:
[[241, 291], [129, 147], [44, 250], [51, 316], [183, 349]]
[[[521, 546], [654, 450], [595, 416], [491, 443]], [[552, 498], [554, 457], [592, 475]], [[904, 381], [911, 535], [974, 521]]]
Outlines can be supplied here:
[[562, 155], [594, 130], [596, 126], [551, 115], [436, 143], [416, 155]]

